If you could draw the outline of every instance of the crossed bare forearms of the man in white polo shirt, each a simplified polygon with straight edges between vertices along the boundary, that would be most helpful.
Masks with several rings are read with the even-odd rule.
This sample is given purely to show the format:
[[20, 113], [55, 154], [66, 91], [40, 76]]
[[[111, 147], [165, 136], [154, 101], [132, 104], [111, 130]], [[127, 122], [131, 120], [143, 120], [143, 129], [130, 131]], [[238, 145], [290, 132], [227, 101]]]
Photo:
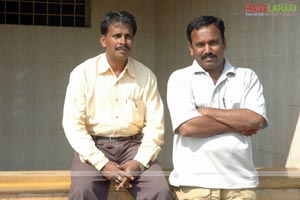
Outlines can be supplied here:
[[201, 116], [185, 121], [176, 132], [189, 137], [209, 137], [227, 132], [250, 136], [266, 123], [261, 115], [249, 109], [197, 108], [197, 110]]

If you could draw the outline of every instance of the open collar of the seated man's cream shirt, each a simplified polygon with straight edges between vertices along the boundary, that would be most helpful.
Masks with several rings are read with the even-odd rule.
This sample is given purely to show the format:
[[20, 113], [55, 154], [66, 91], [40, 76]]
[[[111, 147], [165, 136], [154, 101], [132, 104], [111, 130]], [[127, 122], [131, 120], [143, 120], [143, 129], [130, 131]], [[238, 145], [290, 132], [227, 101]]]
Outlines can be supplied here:
[[[106, 58], [106, 53], [102, 53], [99, 55], [98, 62], [97, 62], [97, 71], [98, 74], [104, 74], [108, 71], [111, 70], [110, 65], [108, 64], [107, 58]], [[111, 70], [112, 71], [112, 70]], [[128, 58], [128, 62], [124, 68], [124, 72], [128, 72], [128, 74], [135, 78], [135, 70], [134, 70], [134, 65], [132, 62], [132, 58]]]

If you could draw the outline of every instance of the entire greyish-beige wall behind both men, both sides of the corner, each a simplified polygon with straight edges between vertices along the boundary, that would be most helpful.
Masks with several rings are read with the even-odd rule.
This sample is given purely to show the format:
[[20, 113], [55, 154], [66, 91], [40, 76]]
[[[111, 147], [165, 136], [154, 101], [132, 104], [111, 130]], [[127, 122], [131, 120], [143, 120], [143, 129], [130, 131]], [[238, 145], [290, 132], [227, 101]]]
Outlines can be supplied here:
[[[262, 3], [251, 1], [255, 2]], [[282, 3], [271, 3], [276, 2]], [[291, 2], [300, 8], [298, 1]], [[241, 0], [99, 0], [92, 1], [90, 28], [0, 25], [0, 170], [69, 169], [72, 150], [61, 127], [69, 73], [103, 51], [99, 21], [109, 10], [135, 15], [133, 56], [156, 73], [164, 101], [169, 75], [192, 62], [187, 23], [202, 14], [223, 18], [226, 56], [232, 64], [257, 72], [268, 103], [270, 125], [253, 137], [255, 163], [284, 167], [293, 153], [293, 138], [299, 138], [294, 134], [300, 134], [295, 132], [300, 110], [300, 14], [249, 17], [245, 5]], [[164, 168], [172, 168], [171, 152], [166, 109], [166, 143], [159, 157]]]

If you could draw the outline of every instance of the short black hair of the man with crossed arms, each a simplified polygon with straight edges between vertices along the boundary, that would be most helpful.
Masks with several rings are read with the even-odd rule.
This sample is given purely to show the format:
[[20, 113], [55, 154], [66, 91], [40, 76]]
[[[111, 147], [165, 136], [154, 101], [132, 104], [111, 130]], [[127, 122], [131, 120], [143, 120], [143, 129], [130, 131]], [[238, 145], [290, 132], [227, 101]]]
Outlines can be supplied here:
[[194, 29], [199, 29], [203, 26], [208, 26], [211, 24], [214, 24], [220, 30], [222, 39], [224, 41], [225, 25], [223, 20], [214, 16], [200, 16], [193, 19], [186, 28], [186, 35], [189, 42], [192, 42], [191, 33]]

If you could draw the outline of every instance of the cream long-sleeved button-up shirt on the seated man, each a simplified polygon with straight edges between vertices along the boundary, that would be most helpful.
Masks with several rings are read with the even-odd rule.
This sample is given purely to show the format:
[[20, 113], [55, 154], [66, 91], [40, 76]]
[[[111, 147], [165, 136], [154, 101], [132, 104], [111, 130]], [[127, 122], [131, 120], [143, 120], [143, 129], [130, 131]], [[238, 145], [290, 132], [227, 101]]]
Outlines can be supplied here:
[[155, 75], [129, 58], [116, 77], [106, 54], [77, 66], [67, 87], [63, 128], [81, 160], [101, 170], [109, 161], [95, 146], [91, 135], [124, 137], [142, 133], [134, 160], [147, 166], [163, 144], [164, 111]]

